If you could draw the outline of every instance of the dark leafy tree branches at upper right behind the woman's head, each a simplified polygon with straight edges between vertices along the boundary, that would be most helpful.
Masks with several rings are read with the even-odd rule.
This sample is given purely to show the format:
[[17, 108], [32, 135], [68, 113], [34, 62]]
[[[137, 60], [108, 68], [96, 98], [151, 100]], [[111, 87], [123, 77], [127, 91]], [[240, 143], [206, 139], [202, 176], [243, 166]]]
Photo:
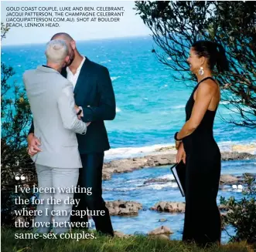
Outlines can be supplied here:
[[256, 2], [136, 1], [135, 10], [159, 46], [152, 52], [178, 81], [196, 80], [186, 63], [193, 42], [224, 45], [230, 72], [214, 75], [227, 108], [237, 113], [228, 121], [256, 128]]

